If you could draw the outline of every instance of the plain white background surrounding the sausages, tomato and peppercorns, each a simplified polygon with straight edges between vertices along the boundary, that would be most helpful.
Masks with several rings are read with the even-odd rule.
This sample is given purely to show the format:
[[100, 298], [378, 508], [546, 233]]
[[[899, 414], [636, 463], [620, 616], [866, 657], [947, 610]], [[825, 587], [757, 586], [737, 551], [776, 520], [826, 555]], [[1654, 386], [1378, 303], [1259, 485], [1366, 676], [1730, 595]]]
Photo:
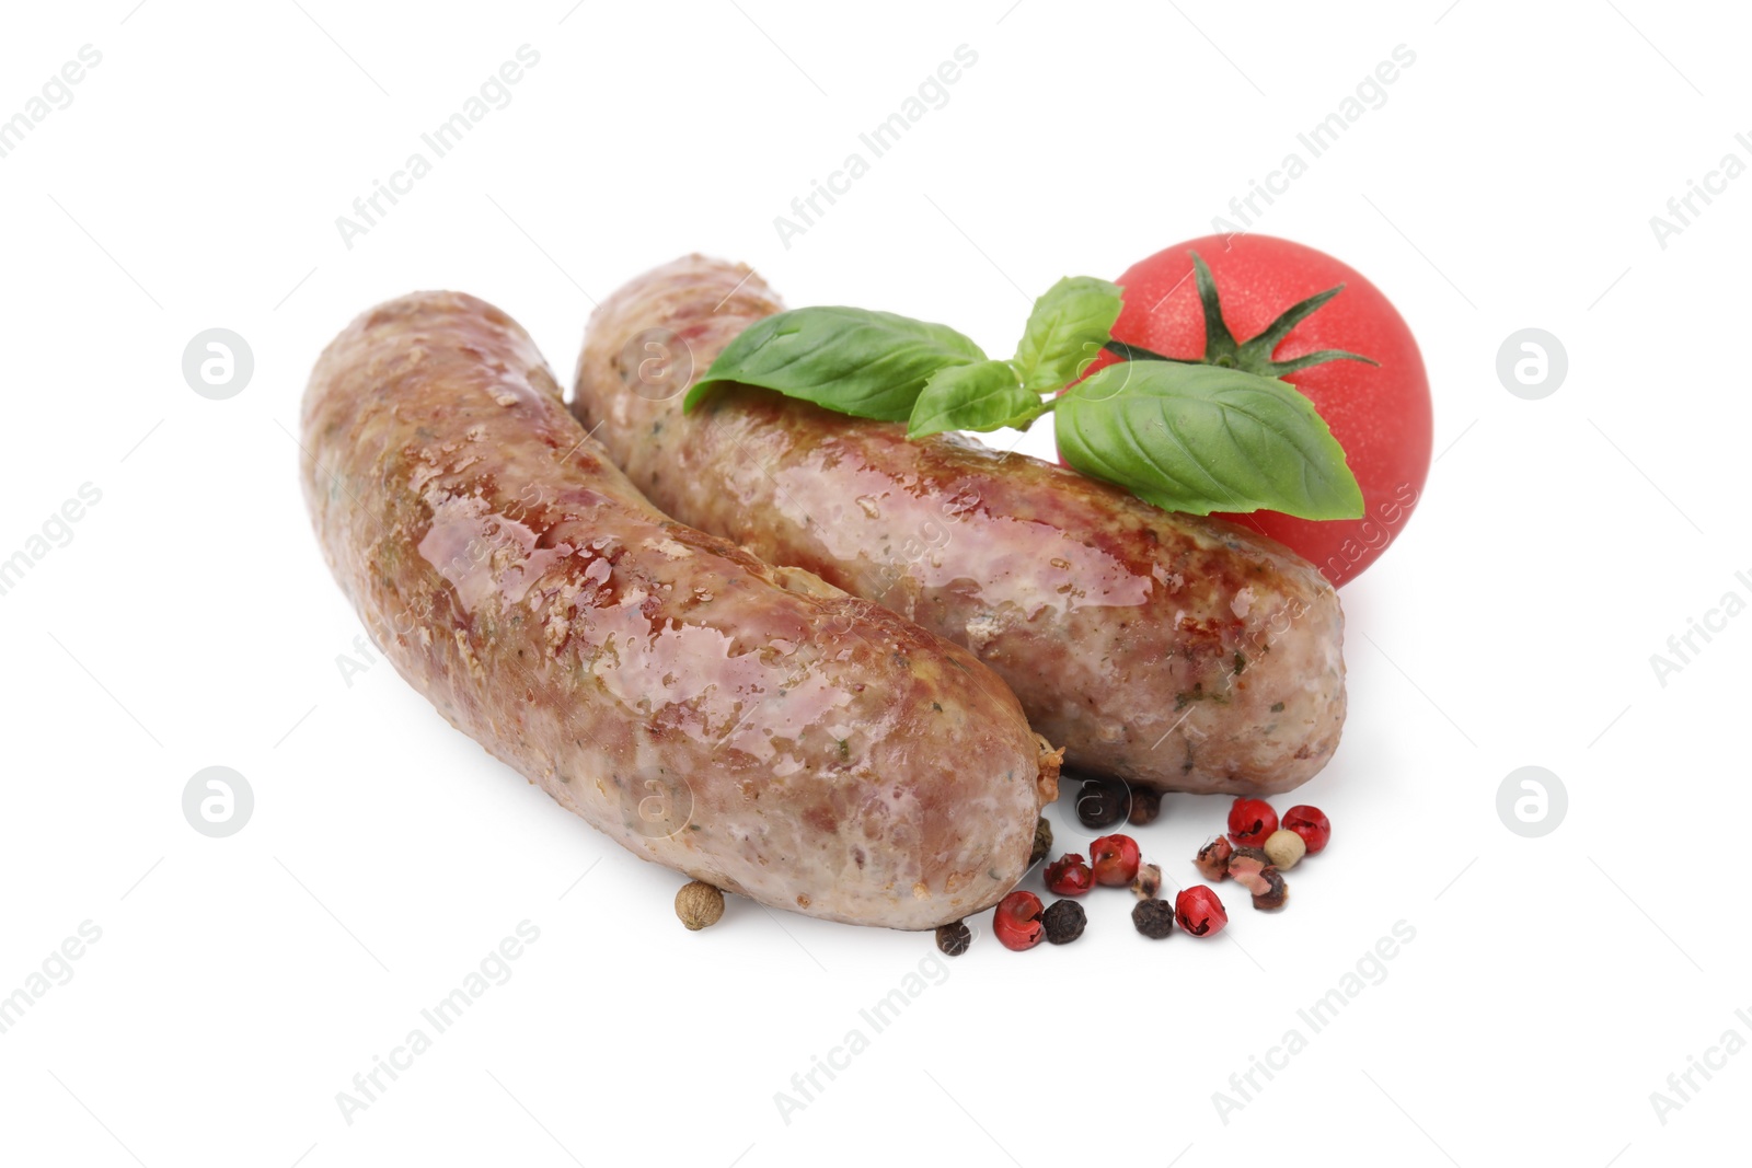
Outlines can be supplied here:
[[[102, 65], [0, 159], [0, 557], [102, 501], [11, 592], [0, 995], [102, 940], [0, 1035], [0, 1161], [128, 1164], [1561, 1163], [1743, 1156], [1752, 1054], [1663, 1124], [1652, 1091], [1752, 1010], [1743, 928], [1752, 616], [1663, 686], [1650, 655], [1752, 574], [1741, 368], [1752, 179], [1649, 219], [1752, 131], [1729, 5], [32, 5], [0, 117]], [[336, 215], [482, 81], [540, 65], [368, 235]], [[787, 249], [773, 228], [920, 81], [978, 65]], [[641, 863], [452, 732], [382, 664], [298, 492], [321, 347], [422, 287], [485, 296], [568, 378], [590, 298], [687, 250], [794, 305], [946, 320], [1009, 352], [1027, 298], [1211, 231], [1393, 47], [1416, 65], [1258, 224], [1410, 320], [1438, 461], [1344, 590], [1351, 718], [1298, 799], [1330, 851], [1226, 940], [1151, 944], [1130, 897], [1027, 954], [732, 902], [683, 932]], [[235, 329], [228, 401], [184, 345]], [[1570, 373], [1524, 401], [1498, 345]], [[1048, 427], [1027, 450], [1049, 450]], [[1698, 641], [1701, 644], [1701, 641]], [[247, 776], [230, 839], [184, 821]], [[1561, 776], [1544, 839], [1512, 769]], [[1295, 800], [1279, 800], [1288, 804]], [[1139, 832], [1169, 876], [1226, 800]], [[1069, 809], [1069, 802], [1065, 806]], [[1088, 832], [1053, 820], [1060, 841]], [[582, 879], [580, 879], [582, 877]], [[1037, 877], [1028, 886], [1039, 888]], [[349, 1124], [336, 1093], [519, 921], [540, 940]], [[1416, 940], [1318, 1035], [1296, 1010], [1396, 921]], [[883, 1033], [858, 1010], [946, 968]], [[860, 1028], [788, 1122], [774, 1093]], [[1289, 1028], [1307, 1049], [1219, 1117]], [[823, 1079], [825, 1082], [825, 1079]], [[1263, 1079], [1261, 1079], [1263, 1082]], [[1235, 1096], [1239, 1098], [1239, 1096]], [[1677, 1096], [1675, 1096], [1677, 1098]], [[1226, 1122], [1225, 1122], [1226, 1119]]]

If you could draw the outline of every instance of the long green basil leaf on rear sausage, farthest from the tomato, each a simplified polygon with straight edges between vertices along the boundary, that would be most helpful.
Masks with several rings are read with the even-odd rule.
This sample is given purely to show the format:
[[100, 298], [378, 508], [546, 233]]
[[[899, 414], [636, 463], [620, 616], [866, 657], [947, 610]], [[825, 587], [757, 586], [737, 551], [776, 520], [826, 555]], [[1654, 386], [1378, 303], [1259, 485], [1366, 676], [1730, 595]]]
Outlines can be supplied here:
[[943, 324], [865, 308], [794, 308], [743, 329], [687, 392], [682, 412], [713, 385], [739, 382], [901, 422], [934, 373], [974, 361], [985, 361], [979, 345]]

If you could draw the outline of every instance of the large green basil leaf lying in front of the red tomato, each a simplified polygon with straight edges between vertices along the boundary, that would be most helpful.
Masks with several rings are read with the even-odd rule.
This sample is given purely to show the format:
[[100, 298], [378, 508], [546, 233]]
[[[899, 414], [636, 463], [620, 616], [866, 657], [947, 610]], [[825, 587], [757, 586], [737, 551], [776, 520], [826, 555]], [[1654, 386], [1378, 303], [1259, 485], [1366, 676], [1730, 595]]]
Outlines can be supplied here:
[[1358, 518], [1363, 492], [1314, 403], [1240, 369], [1127, 361], [1058, 398], [1058, 450], [1169, 511]]

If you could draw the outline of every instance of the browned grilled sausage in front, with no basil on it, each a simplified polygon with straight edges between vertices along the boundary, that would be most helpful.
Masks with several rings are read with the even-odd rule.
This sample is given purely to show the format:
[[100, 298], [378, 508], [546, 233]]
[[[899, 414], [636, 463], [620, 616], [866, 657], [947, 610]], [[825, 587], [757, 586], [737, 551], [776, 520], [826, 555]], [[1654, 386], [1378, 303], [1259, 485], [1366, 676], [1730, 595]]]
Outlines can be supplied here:
[[629, 851], [932, 928], [1028, 867], [1056, 762], [965, 650], [652, 508], [471, 296], [354, 320], [303, 405], [329, 567], [396, 671]]

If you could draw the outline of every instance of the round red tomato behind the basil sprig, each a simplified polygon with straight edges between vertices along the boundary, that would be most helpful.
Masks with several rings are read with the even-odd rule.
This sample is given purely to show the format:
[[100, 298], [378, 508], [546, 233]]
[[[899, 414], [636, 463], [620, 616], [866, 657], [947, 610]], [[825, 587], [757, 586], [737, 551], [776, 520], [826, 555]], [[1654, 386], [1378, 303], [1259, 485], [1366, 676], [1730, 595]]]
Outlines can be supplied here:
[[[1277, 345], [1289, 361], [1318, 348], [1374, 357], [1328, 361], [1284, 376], [1319, 410], [1363, 489], [1363, 518], [1305, 520], [1279, 511], [1225, 515], [1288, 545], [1333, 585], [1368, 567], [1405, 525], [1430, 473], [1430, 378], [1403, 317], [1374, 284], [1325, 252], [1267, 235], [1188, 240], [1120, 277], [1125, 310], [1114, 340], [1165, 357], [1204, 355], [1205, 326], [1190, 252], [1211, 266], [1237, 341], [1258, 336], [1291, 305], [1344, 284]], [[1091, 369], [1116, 361], [1104, 355]]]

